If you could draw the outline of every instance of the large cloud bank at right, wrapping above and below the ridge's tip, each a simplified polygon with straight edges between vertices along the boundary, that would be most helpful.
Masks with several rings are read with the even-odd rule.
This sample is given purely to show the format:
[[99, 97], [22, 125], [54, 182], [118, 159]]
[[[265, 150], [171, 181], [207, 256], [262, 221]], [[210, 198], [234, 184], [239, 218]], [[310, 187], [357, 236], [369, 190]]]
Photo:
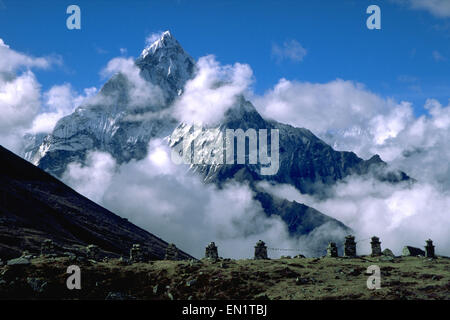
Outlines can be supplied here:
[[[450, 103], [443, 106], [428, 99], [427, 113], [415, 117], [411, 103], [384, 99], [343, 80], [281, 80], [254, 100], [267, 117], [311, 129], [339, 150], [364, 158], [379, 154], [418, 180], [406, 187], [349, 177], [325, 200], [301, 195], [292, 186], [271, 186], [268, 191], [342, 221], [360, 239], [381, 236], [398, 254], [402, 246], [423, 246], [428, 238], [436, 241], [441, 254], [450, 254]], [[369, 252], [368, 243], [361, 246]]]

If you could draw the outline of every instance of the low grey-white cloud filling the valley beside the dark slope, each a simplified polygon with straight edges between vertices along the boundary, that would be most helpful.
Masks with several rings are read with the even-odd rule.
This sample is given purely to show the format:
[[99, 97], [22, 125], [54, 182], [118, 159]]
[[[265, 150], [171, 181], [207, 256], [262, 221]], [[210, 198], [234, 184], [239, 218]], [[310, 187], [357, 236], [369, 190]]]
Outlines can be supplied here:
[[323, 226], [310, 236], [291, 238], [280, 217], [266, 216], [247, 185], [205, 185], [187, 167], [174, 165], [167, 143], [159, 139], [150, 142], [145, 159], [121, 166], [108, 154], [91, 153], [86, 166], [70, 164], [63, 180], [197, 258], [210, 241], [218, 244], [223, 257], [251, 258], [260, 239], [270, 247], [299, 248], [310, 255], [315, 249], [311, 243], [333, 233]]

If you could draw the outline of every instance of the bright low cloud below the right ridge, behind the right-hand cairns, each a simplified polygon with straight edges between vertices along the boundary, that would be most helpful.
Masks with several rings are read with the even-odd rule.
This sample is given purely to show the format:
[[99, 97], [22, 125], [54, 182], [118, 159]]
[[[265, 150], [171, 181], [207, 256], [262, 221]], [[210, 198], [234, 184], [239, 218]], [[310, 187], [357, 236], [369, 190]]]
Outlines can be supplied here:
[[[264, 184], [263, 184], [264, 185]], [[450, 255], [450, 194], [428, 183], [413, 186], [349, 177], [336, 184], [326, 199], [302, 195], [293, 186], [265, 184], [268, 192], [305, 203], [338, 219], [355, 231], [360, 254], [370, 253], [372, 236], [397, 255], [405, 245], [423, 247], [434, 240], [438, 254]]]

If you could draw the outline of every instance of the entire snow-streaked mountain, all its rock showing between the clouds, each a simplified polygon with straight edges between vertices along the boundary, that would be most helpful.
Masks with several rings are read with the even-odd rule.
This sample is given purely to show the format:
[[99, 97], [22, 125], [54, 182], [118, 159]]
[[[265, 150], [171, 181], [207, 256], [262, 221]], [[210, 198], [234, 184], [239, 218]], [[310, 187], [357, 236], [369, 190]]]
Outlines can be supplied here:
[[[153, 138], [167, 138], [172, 147], [176, 146], [189, 124], [179, 123], [169, 112], [161, 111], [169, 110], [183, 94], [186, 82], [195, 76], [194, 59], [166, 31], [144, 49], [135, 65], [145, 81], [162, 89], [163, 103], [131, 107], [131, 84], [118, 73], [100, 90], [96, 103], [82, 105], [62, 118], [51, 134], [28, 136], [24, 158], [61, 177], [69, 163], [85, 163], [87, 153], [92, 150], [108, 152], [121, 164], [143, 159]], [[149, 113], [156, 116], [148, 117]], [[276, 175], [262, 176], [259, 165], [249, 164], [192, 165], [192, 169], [203, 176], [205, 183], [219, 187], [227, 181], [247, 183], [266, 214], [279, 215], [293, 236], [308, 234], [325, 223], [343, 232], [350, 229], [304, 204], [276, 198], [258, 187], [257, 182], [290, 184], [302, 193], [321, 195], [328, 186], [351, 174], [373, 172], [380, 180], [393, 183], [410, 179], [403, 172], [389, 171], [377, 155], [363, 160], [353, 152], [335, 151], [307, 129], [264, 119], [242, 96], [236, 98], [234, 107], [227, 111], [217, 128], [279, 130], [280, 167]], [[342, 239], [330, 236], [327, 240]]]

